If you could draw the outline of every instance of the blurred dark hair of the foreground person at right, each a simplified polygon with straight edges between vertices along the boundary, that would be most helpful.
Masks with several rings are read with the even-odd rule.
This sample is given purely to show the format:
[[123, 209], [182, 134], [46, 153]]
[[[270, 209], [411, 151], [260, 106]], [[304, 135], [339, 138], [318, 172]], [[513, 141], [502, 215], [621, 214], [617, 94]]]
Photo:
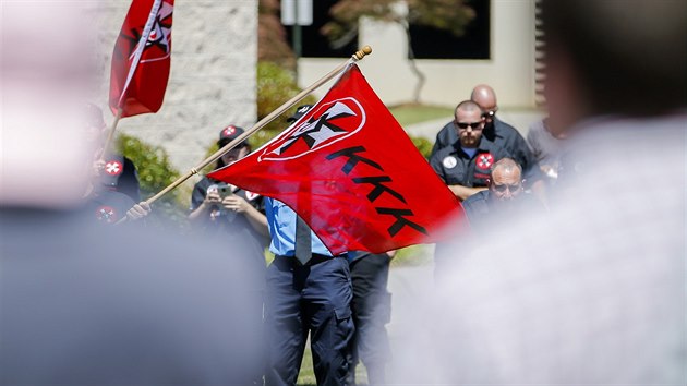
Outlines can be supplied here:
[[564, 52], [591, 114], [687, 106], [687, 1], [542, 0], [546, 58]]

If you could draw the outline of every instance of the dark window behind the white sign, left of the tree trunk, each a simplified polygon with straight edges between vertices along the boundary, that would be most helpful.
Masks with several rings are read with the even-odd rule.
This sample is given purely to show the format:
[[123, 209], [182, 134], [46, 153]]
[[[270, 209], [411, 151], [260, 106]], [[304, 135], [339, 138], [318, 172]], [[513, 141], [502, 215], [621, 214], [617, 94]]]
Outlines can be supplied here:
[[[351, 41], [339, 48], [329, 47], [329, 40], [320, 33], [320, 28], [329, 21], [329, 8], [337, 0], [313, 0], [313, 24], [301, 26], [303, 57], [306, 58], [349, 58], [358, 50], [358, 35]], [[287, 38], [291, 48], [293, 48], [293, 27], [285, 26]]]

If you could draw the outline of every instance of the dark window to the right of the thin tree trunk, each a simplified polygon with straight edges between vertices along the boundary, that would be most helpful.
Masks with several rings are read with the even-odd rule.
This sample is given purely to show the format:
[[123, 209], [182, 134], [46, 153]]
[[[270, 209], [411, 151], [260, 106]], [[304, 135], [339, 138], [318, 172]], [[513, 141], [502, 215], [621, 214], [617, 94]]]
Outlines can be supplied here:
[[470, 1], [475, 17], [466, 34], [410, 25], [411, 47], [417, 59], [490, 59], [490, 0]]

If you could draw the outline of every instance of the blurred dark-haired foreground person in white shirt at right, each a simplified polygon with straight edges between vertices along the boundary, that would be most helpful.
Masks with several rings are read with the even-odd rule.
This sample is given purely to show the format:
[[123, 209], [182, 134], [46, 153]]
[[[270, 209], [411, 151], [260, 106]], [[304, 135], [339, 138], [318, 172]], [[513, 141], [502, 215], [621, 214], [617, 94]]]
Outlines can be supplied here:
[[395, 375], [684, 385], [687, 2], [541, 4], [549, 117], [570, 137], [562, 164], [575, 173], [551, 214], [511, 218], [461, 250], [417, 321], [433, 333], [397, 346], [396, 369], [430, 375]]

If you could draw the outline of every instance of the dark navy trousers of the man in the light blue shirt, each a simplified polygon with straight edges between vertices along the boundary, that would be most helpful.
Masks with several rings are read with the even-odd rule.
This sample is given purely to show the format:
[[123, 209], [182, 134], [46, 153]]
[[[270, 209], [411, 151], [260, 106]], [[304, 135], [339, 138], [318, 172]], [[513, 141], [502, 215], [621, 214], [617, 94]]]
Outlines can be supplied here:
[[301, 265], [294, 257], [275, 257], [265, 299], [266, 385], [296, 385], [309, 331], [317, 385], [346, 385], [351, 299], [346, 258], [313, 255]]

